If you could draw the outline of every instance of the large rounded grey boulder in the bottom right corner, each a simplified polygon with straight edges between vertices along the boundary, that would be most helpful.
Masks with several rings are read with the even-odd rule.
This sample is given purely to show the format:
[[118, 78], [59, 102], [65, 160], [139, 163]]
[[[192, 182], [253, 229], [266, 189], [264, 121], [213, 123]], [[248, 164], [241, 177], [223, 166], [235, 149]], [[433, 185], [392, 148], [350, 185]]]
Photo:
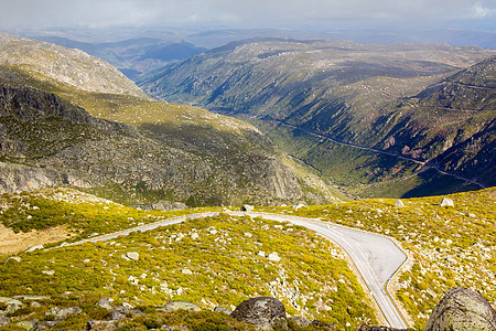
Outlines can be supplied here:
[[432, 310], [425, 331], [496, 330], [496, 311], [477, 292], [450, 289]]

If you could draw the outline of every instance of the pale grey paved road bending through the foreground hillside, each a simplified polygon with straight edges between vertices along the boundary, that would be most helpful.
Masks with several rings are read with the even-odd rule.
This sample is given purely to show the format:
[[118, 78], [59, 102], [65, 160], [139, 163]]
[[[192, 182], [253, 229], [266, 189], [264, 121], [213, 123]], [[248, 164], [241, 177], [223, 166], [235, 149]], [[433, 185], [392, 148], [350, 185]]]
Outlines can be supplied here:
[[[386, 285], [390, 277], [406, 261], [407, 256], [387, 237], [371, 233], [353, 229], [334, 223], [322, 222], [312, 218], [295, 217], [281, 214], [254, 213], [254, 212], [224, 212], [231, 215], [250, 215], [279, 222], [291, 222], [313, 229], [324, 237], [343, 247], [349, 255], [356, 268], [368, 287], [370, 295], [376, 300], [389, 325], [406, 329], [408, 324], [386, 291]], [[129, 235], [131, 232], [145, 232], [159, 226], [177, 224], [186, 220], [215, 216], [218, 212], [190, 214], [177, 216], [155, 223], [144, 224], [116, 233], [88, 238], [68, 245], [77, 245], [88, 242], [104, 242], [118, 236]], [[67, 245], [67, 246], [68, 246]]]

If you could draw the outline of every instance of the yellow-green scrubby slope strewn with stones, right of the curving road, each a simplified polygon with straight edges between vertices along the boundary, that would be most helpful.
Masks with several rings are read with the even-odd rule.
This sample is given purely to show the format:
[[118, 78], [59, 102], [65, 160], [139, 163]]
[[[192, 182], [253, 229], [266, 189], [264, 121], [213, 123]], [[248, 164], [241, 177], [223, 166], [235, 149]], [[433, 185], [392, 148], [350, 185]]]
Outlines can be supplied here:
[[448, 195], [454, 206], [440, 206], [442, 196], [370, 199], [327, 206], [267, 207], [287, 213], [363, 228], [396, 238], [412, 256], [390, 289], [423, 329], [442, 295], [454, 286], [478, 291], [496, 301], [495, 189]]

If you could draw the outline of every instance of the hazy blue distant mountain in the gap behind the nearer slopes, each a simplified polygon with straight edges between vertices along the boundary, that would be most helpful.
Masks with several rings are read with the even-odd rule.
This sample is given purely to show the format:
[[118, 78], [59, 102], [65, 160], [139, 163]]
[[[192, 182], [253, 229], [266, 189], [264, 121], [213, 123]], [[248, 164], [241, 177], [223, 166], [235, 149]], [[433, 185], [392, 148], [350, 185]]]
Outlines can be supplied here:
[[39, 36], [39, 41], [79, 49], [103, 58], [130, 78], [207, 51], [182, 40], [133, 38], [119, 42], [89, 43], [61, 36]]

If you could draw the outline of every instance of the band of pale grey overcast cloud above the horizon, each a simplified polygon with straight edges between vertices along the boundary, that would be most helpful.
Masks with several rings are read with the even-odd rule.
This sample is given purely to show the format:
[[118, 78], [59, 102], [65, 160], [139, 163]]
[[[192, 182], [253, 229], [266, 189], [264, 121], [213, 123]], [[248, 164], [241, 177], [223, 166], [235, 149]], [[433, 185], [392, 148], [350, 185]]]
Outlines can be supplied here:
[[496, 21], [496, 0], [0, 0], [0, 4], [4, 30]]

